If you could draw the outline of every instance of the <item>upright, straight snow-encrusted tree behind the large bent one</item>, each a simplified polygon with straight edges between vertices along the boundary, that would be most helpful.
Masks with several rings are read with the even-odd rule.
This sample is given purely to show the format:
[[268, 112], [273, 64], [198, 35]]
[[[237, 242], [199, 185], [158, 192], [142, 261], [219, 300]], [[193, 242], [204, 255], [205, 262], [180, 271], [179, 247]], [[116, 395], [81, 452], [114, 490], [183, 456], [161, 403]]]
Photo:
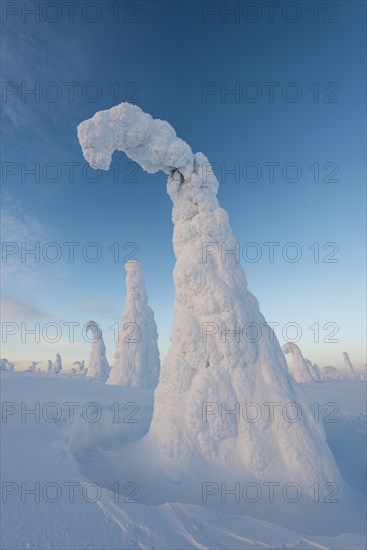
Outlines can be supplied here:
[[121, 317], [115, 364], [107, 384], [155, 388], [160, 359], [157, 325], [148, 306], [143, 272], [136, 260], [125, 263], [126, 301]]

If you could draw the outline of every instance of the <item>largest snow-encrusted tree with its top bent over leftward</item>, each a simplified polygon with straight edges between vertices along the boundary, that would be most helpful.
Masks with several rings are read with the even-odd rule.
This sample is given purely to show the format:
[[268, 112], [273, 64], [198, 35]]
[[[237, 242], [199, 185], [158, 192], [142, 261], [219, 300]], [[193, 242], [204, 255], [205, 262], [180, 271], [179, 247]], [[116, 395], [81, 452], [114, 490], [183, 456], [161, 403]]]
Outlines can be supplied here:
[[[321, 423], [313, 421], [301, 387], [289, 375], [280, 345], [266, 324], [245, 273], [233, 254], [203, 259], [207, 243], [233, 250], [227, 213], [217, 200], [218, 181], [202, 153], [193, 155], [165, 122], [153, 121], [138, 107], [122, 103], [101, 111], [78, 128], [84, 156], [107, 170], [115, 149], [148, 171], [168, 172], [173, 202], [175, 306], [171, 346], [155, 392], [149, 436], [157, 443], [167, 477], [181, 482], [197, 461], [237, 469], [247, 479], [339, 483], [341, 479]], [[209, 173], [208, 173], [209, 172]], [[204, 323], [218, 328], [203, 337]], [[237, 323], [237, 324], [236, 324]], [[244, 338], [240, 329], [256, 323], [261, 335]], [[207, 325], [206, 325], [207, 326]], [[220, 334], [238, 328], [238, 338]], [[251, 333], [251, 331], [250, 331]], [[249, 341], [251, 340], [251, 341]], [[264, 403], [296, 402], [298, 422], [281, 414], [270, 420]], [[203, 405], [256, 402], [257, 422], [240, 415], [203, 419]]]

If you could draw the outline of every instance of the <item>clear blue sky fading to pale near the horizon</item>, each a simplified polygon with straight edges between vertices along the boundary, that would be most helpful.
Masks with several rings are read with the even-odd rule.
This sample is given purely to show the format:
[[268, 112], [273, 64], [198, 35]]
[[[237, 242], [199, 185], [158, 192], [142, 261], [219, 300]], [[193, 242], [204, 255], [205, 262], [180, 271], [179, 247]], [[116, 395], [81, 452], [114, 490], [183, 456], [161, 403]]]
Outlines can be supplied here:
[[[244, 251], [249, 289], [267, 320], [280, 324], [280, 342], [284, 326], [295, 322], [302, 329], [297, 343], [314, 362], [339, 366], [347, 350], [355, 366], [363, 365], [365, 4], [336, 2], [333, 14], [320, 2], [319, 22], [311, 2], [296, 2], [297, 12], [281, 2], [273, 22], [263, 2], [252, 3], [261, 15], [245, 12], [246, 2], [227, 3], [237, 15], [222, 2], [120, 2], [117, 22], [116, 2], [95, 2], [100, 13], [78, 2], [73, 22], [57, 4], [59, 13], [40, 12], [39, 20], [20, 4], [17, 13], [2, 14], [2, 238], [19, 249], [24, 242], [41, 247], [38, 263], [31, 256], [22, 262], [19, 252], [3, 264], [3, 321], [18, 323], [19, 333], [8, 337], [2, 355], [19, 365], [56, 353], [66, 366], [87, 359], [81, 327], [94, 319], [112, 361], [109, 327], [124, 307], [129, 253], [142, 262], [162, 355], [167, 351], [174, 255], [166, 178], [143, 173], [122, 154], [108, 173], [86, 170], [76, 134], [97, 110], [129, 100], [168, 120], [216, 164], [219, 200]], [[25, 94], [31, 88], [37, 97]], [[269, 163], [277, 163], [274, 181]], [[39, 181], [26, 172], [31, 168]], [[44, 248], [50, 242], [62, 252], [54, 263], [42, 258], [42, 251], [54, 254]], [[65, 242], [80, 243], [73, 263]], [[102, 253], [96, 263], [82, 254], [90, 242]], [[257, 262], [249, 261], [249, 242], [261, 251]], [[267, 242], [280, 243], [274, 262]], [[294, 253], [284, 249], [290, 242], [302, 252], [298, 262], [282, 255]], [[335, 244], [324, 249], [327, 243]], [[90, 258], [94, 250], [84, 252]], [[21, 322], [58, 323], [62, 338], [45, 343], [41, 335], [35, 345], [25, 335], [22, 342]], [[65, 322], [80, 323], [74, 343]], [[309, 329], [314, 323], [319, 342]], [[324, 342], [334, 327], [338, 342]]]

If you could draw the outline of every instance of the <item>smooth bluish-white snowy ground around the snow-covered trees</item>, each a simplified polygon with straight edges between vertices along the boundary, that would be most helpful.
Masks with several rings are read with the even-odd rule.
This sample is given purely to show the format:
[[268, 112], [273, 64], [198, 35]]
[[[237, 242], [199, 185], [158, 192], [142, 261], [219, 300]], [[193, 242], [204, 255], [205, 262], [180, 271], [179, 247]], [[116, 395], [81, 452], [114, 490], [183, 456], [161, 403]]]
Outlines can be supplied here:
[[[287, 504], [276, 493], [269, 503], [266, 491], [257, 502], [223, 499], [221, 483], [246, 483], [224, 472], [202, 472], [190, 487], [170, 484], [154, 442], [142, 441], [150, 391], [1, 372], [1, 548], [365, 548], [366, 385], [304, 387], [350, 487], [338, 502], [321, 495]], [[209, 482], [218, 490], [205, 503]]]

